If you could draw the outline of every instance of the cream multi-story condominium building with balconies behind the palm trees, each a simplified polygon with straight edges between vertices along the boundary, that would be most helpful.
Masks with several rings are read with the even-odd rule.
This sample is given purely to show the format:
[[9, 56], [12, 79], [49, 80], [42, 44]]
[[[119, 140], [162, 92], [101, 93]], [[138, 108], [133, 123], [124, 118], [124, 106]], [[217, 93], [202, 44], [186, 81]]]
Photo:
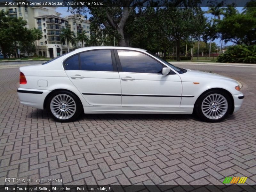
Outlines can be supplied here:
[[[0, 4], [1, 5], [1, 4]], [[67, 44], [61, 43], [60, 34], [63, 28], [69, 28], [74, 31], [76, 37], [78, 33], [86, 32], [90, 39], [90, 22], [84, 17], [70, 15], [60, 17], [61, 13], [56, 12], [56, 7], [1, 7], [2, 10], [9, 12], [10, 17], [22, 17], [27, 21], [27, 28], [38, 28], [42, 30], [43, 37], [36, 44], [36, 53], [38, 56], [57, 57], [68, 52]], [[77, 42], [76, 47], [81, 47], [82, 42]], [[72, 50], [72, 44], [69, 44], [69, 50]]]

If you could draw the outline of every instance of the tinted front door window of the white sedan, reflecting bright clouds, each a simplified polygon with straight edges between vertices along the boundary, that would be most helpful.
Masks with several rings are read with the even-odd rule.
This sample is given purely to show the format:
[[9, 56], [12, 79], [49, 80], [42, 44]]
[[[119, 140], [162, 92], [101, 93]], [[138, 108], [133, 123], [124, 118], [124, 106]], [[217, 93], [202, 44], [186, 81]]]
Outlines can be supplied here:
[[144, 53], [124, 50], [117, 52], [124, 72], [162, 73], [163, 65]]

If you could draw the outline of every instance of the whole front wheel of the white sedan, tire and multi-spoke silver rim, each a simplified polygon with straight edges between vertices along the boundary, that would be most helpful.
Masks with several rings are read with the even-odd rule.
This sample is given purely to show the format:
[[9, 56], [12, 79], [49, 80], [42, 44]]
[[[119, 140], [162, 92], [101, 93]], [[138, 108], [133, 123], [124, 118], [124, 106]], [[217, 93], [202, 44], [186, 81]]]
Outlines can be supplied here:
[[201, 95], [195, 104], [196, 115], [205, 122], [220, 122], [232, 108], [230, 96], [223, 91], [209, 91]]

